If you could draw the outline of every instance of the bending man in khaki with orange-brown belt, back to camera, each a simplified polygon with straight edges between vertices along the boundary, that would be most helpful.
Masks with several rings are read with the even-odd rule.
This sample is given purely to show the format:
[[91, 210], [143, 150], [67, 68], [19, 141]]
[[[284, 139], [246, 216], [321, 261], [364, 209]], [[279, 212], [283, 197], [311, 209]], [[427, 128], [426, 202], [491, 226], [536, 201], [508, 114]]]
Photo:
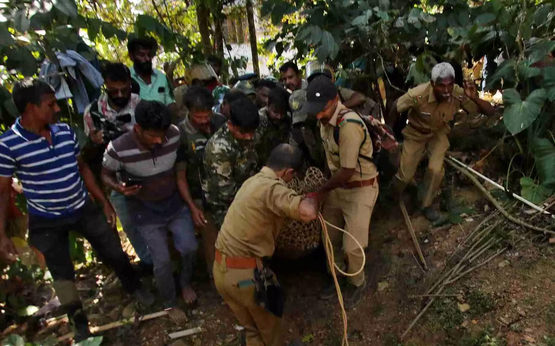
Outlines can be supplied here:
[[317, 217], [316, 199], [285, 186], [301, 167], [300, 149], [275, 147], [266, 166], [235, 195], [216, 240], [214, 283], [245, 328], [248, 346], [281, 345], [281, 317], [255, 300], [255, 269], [260, 271], [274, 254], [285, 218], [308, 222]]

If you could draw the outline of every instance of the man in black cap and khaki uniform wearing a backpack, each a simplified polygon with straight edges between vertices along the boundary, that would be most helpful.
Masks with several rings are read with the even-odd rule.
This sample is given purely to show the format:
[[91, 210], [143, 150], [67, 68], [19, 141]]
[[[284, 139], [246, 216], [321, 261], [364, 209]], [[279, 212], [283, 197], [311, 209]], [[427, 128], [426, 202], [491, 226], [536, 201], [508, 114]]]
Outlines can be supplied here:
[[[332, 173], [331, 179], [317, 191], [319, 199], [325, 199], [322, 215], [366, 247], [370, 217], [379, 191], [370, 133], [360, 116], [341, 104], [337, 89], [329, 78], [317, 77], [310, 82], [303, 110], [316, 116], [320, 122], [327, 165]], [[327, 231], [334, 245], [337, 266], [345, 268], [346, 258], [347, 272], [357, 272], [363, 259], [359, 246], [342, 232], [331, 227]], [[348, 277], [348, 281], [345, 307], [354, 308], [366, 288], [364, 271]], [[324, 289], [321, 298], [330, 299], [334, 294], [335, 288], [330, 285]]]

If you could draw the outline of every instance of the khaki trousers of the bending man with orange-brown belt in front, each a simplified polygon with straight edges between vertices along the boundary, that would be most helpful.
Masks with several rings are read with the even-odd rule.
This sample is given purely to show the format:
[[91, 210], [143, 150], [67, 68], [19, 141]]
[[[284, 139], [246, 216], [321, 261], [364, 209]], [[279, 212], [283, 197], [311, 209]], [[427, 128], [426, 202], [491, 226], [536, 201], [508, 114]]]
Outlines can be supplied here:
[[214, 262], [214, 283], [220, 296], [243, 325], [247, 346], [281, 346], [281, 318], [266, 311], [254, 300], [254, 269], [231, 269]]

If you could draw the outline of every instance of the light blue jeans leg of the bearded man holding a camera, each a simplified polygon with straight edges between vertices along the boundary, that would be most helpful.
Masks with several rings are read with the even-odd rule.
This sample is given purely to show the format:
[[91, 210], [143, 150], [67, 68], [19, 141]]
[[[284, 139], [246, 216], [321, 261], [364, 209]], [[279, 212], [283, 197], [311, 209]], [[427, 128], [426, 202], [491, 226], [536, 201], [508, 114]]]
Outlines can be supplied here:
[[133, 245], [135, 253], [137, 253], [141, 263], [152, 266], [152, 256], [150, 256], [147, 243], [144, 242], [143, 236], [140, 235], [137, 227], [131, 220], [129, 211], [127, 210], [125, 196], [117, 191], [112, 191], [112, 194], [110, 194], [110, 203], [112, 203], [115, 213], [118, 215], [119, 222], [122, 223], [123, 231], [125, 235], [127, 235], [131, 245]]

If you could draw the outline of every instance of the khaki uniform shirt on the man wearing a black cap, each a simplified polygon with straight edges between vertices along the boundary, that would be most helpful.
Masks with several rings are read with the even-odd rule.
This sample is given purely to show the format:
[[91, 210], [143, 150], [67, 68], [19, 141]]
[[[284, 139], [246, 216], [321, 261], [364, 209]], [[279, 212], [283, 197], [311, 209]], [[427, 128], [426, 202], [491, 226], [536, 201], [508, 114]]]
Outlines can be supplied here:
[[[341, 167], [354, 168], [356, 173], [352, 175], [349, 181], [372, 179], [378, 175], [376, 165], [372, 161], [359, 156], [359, 154], [362, 154], [366, 157], [372, 157], [373, 149], [370, 133], [364, 121], [354, 111], [344, 114], [342, 116], [344, 120], [338, 124], [337, 122], [341, 118], [339, 113], [346, 109], [348, 108], [340, 102], [329, 123], [320, 126], [327, 165], [330, 167], [332, 174]], [[360, 124], [348, 122], [347, 119], [360, 121]], [[339, 144], [335, 143], [334, 139], [335, 126], [339, 126]]]

